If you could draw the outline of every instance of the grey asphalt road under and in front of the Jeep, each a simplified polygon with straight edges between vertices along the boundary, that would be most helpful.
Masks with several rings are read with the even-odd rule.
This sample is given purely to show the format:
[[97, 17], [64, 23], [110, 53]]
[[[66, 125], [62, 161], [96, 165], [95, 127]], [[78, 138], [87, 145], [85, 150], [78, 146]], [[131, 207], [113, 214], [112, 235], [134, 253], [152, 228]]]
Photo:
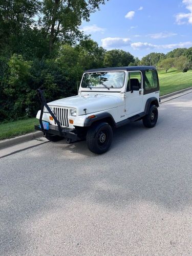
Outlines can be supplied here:
[[111, 150], [44, 143], [0, 159], [0, 255], [192, 255], [192, 93]]

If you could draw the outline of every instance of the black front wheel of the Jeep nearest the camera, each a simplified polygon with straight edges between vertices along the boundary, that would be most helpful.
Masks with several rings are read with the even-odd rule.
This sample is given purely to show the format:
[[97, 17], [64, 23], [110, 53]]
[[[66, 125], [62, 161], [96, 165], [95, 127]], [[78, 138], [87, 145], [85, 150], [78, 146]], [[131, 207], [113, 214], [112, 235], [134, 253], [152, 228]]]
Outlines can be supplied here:
[[91, 152], [103, 154], [109, 150], [113, 140], [113, 130], [109, 123], [94, 124], [87, 133], [87, 145]]

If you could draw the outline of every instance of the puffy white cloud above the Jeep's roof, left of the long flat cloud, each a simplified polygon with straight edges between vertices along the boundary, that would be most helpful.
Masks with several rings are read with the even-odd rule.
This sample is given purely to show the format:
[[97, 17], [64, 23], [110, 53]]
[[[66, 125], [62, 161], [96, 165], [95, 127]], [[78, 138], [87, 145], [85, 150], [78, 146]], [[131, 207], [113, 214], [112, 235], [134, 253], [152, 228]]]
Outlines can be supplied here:
[[117, 48], [123, 46], [130, 46], [131, 39], [130, 38], [122, 38], [122, 37], [106, 37], [101, 39], [103, 48]]

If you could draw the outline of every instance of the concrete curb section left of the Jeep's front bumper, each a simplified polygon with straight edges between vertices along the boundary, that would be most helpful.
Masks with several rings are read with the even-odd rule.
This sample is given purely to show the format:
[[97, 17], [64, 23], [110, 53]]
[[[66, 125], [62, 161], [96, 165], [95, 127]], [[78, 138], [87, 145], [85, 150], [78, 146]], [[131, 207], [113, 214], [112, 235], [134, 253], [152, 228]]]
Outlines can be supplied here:
[[12, 139], [5, 139], [0, 141], [0, 150], [5, 147], [13, 146], [25, 141], [33, 140], [42, 136], [42, 132], [28, 133], [22, 136], [18, 136]]

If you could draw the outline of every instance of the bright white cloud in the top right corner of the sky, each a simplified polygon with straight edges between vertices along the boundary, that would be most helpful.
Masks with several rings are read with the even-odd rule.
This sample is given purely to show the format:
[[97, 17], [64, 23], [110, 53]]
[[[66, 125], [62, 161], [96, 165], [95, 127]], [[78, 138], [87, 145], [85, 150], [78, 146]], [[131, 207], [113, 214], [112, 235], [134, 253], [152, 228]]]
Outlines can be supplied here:
[[188, 13], [178, 13], [176, 14], [176, 23], [178, 25], [183, 24], [192, 24], [192, 0], [183, 0], [182, 3], [185, 5], [185, 8], [189, 10]]

